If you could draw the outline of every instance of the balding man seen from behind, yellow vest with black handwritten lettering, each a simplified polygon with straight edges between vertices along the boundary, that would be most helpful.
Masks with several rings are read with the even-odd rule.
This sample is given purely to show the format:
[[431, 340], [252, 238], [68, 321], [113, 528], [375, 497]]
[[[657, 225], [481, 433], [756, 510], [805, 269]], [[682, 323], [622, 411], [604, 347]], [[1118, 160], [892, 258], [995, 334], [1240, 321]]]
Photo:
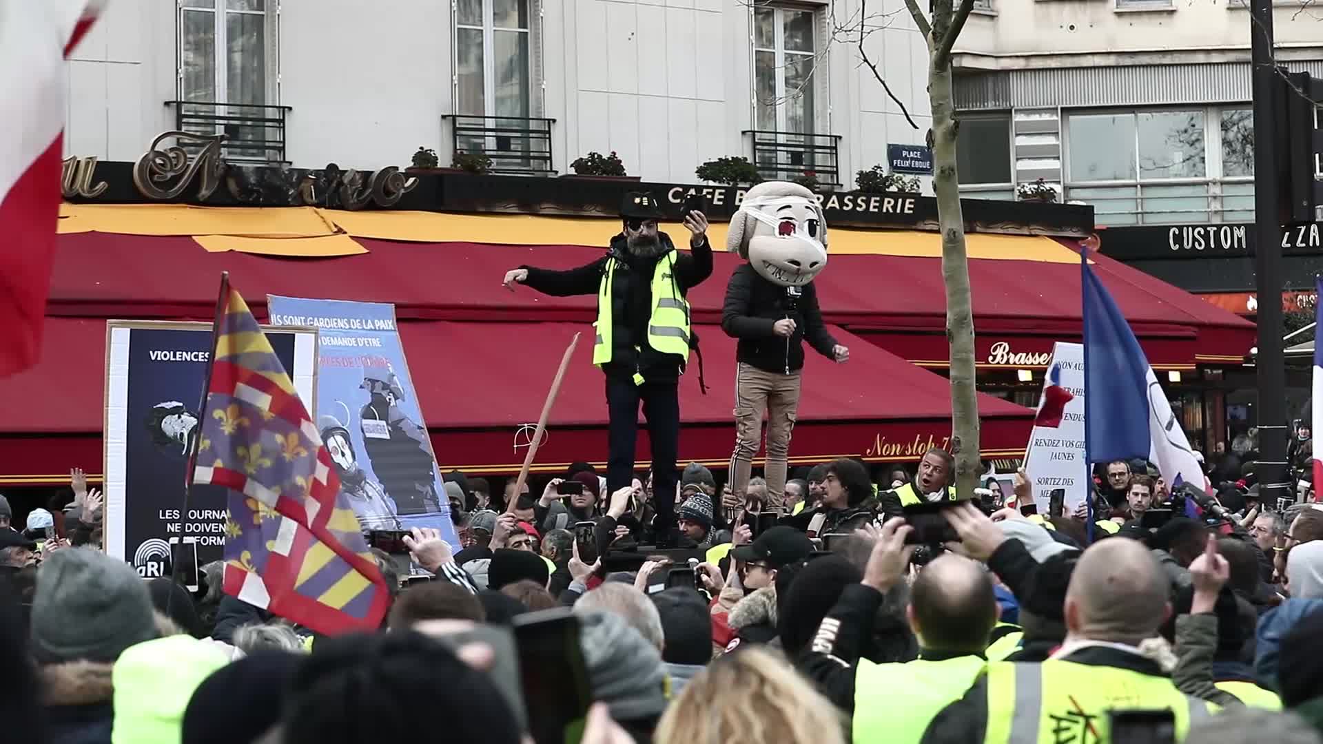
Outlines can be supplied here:
[[1061, 649], [1043, 663], [990, 663], [933, 719], [923, 744], [1110, 744], [1111, 714], [1127, 710], [1171, 711], [1184, 740], [1216, 706], [1179, 691], [1138, 647], [1171, 613], [1168, 585], [1143, 543], [1094, 543], [1070, 575]]

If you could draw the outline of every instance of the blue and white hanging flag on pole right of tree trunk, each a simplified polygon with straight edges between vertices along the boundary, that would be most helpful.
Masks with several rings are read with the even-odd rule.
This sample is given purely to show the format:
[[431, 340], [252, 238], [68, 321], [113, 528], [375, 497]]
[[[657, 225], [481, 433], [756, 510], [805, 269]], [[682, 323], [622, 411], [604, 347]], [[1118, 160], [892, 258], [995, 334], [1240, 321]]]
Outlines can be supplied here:
[[1084, 380], [1090, 402], [1085, 416], [1088, 461], [1144, 458], [1158, 466], [1168, 483], [1197, 483], [1207, 490], [1204, 469], [1167, 402], [1167, 393], [1086, 257], [1081, 257], [1081, 273]]

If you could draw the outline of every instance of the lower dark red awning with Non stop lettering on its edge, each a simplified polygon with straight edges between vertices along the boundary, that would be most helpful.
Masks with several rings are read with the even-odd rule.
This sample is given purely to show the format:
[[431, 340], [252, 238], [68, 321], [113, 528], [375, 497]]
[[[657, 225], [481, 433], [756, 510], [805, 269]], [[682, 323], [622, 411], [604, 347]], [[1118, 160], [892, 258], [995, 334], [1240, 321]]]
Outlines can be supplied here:
[[[103, 320], [48, 318], [38, 365], [0, 384], [0, 483], [67, 479], [69, 467], [102, 470]], [[523, 462], [516, 432], [536, 422], [565, 346], [578, 323], [406, 322], [400, 326], [433, 445], [443, 469], [511, 473]], [[709, 393], [699, 391], [697, 364], [680, 385], [681, 461], [724, 465], [734, 445], [734, 343], [700, 326]], [[917, 459], [950, 434], [950, 383], [840, 328], [848, 364], [810, 353], [807, 384], [791, 447], [796, 463], [841, 455], [872, 461]], [[695, 360], [696, 361], [696, 360]], [[986, 457], [1024, 450], [1032, 412], [979, 397]], [[527, 432], [523, 442], [527, 442]], [[647, 462], [647, 436], [638, 458]], [[538, 451], [542, 469], [606, 457], [602, 373], [581, 339]]]

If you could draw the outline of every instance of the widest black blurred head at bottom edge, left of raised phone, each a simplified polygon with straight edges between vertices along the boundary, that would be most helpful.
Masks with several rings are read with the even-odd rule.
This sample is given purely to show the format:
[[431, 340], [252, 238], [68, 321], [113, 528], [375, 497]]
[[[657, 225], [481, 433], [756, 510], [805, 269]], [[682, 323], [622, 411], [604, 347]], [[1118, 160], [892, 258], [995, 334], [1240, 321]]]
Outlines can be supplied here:
[[520, 744], [491, 678], [411, 630], [319, 639], [288, 690], [284, 744], [410, 741], [438, 721], [448, 741]]

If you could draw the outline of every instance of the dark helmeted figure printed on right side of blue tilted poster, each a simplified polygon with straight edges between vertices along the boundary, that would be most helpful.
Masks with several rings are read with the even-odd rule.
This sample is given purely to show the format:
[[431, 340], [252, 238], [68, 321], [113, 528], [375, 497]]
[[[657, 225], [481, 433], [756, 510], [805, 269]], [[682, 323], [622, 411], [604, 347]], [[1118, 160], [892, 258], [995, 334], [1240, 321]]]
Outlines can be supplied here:
[[427, 429], [401, 410], [405, 391], [394, 369], [365, 367], [361, 388], [372, 396], [360, 412], [363, 442], [381, 486], [400, 514], [441, 511]]

